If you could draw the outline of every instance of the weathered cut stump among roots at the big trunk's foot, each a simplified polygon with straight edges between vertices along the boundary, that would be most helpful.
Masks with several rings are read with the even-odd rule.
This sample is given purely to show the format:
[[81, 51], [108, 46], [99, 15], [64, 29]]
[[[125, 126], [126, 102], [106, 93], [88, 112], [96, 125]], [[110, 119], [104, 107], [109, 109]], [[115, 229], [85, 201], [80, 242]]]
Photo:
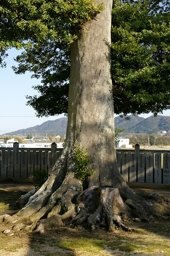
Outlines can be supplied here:
[[[94, 199], [97, 199], [94, 202]], [[92, 230], [96, 227], [107, 227], [109, 231], [115, 229], [115, 224], [124, 227], [120, 221], [120, 215], [128, 211], [128, 207], [123, 203], [118, 188], [113, 187], [90, 187], [85, 190], [79, 197], [88, 211], [93, 212], [87, 219], [88, 227]], [[84, 211], [85, 212], [85, 211]], [[87, 214], [82, 217], [87, 218]], [[76, 216], [74, 219], [77, 219]], [[74, 219], [72, 222], [74, 222]], [[85, 219], [86, 220], [86, 219]]]

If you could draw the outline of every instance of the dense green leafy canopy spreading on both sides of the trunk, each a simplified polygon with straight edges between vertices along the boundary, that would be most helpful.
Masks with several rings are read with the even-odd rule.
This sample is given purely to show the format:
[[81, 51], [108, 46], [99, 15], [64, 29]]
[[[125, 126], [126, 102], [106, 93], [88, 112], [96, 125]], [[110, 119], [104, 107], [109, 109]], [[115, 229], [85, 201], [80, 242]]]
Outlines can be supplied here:
[[[38, 116], [68, 112], [70, 44], [86, 20], [103, 10], [93, 0], [4, 0], [0, 13], [0, 58], [9, 47], [17, 74], [41, 78], [27, 96]], [[112, 83], [116, 114], [157, 115], [170, 107], [170, 14], [163, 1], [113, 1]]]

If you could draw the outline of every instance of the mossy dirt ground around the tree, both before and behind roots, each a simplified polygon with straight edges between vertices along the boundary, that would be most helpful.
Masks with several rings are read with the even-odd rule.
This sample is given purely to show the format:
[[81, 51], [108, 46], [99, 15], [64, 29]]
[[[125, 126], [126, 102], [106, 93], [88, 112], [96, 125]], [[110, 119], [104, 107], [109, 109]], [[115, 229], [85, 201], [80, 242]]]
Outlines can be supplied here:
[[[32, 183], [0, 182], [0, 215], [12, 214], [14, 202], [34, 188]], [[169, 188], [133, 187], [149, 193], [170, 195]], [[98, 229], [95, 232], [83, 227], [61, 227], [45, 233], [14, 232], [3, 234], [10, 226], [0, 224], [0, 255], [3, 256], [103, 256], [103, 255], [170, 255], [170, 217], [151, 218], [149, 223], [126, 221], [134, 232], [115, 230], [109, 233]]]

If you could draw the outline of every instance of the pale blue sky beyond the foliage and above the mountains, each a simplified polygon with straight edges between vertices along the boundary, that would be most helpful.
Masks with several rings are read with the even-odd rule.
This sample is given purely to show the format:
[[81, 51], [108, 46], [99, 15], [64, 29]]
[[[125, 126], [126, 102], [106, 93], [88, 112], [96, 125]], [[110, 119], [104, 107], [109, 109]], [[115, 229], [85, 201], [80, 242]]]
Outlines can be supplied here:
[[[30, 72], [24, 75], [16, 75], [11, 66], [16, 65], [13, 58], [19, 53], [16, 49], [8, 50], [8, 58], [6, 58], [7, 67], [0, 68], [0, 134], [18, 129], [25, 129], [40, 125], [48, 120], [55, 120], [63, 117], [49, 116], [48, 118], [38, 118], [35, 116], [35, 111], [30, 106], [26, 106], [26, 95], [35, 95], [32, 86], [40, 84], [37, 79], [31, 78]], [[142, 117], [152, 115], [144, 114]], [[170, 116], [170, 109], [163, 112], [163, 115]]]

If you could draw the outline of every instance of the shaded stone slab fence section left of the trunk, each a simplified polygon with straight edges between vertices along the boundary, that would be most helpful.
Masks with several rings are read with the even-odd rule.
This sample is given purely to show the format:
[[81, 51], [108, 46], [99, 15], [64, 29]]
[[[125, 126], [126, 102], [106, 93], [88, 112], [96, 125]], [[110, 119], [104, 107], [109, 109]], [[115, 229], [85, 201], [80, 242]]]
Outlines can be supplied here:
[[13, 148], [0, 148], [0, 180], [33, 181], [33, 173], [37, 168], [51, 172], [62, 148], [52, 143], [51, 148], [19, 148], [14, 143]]

